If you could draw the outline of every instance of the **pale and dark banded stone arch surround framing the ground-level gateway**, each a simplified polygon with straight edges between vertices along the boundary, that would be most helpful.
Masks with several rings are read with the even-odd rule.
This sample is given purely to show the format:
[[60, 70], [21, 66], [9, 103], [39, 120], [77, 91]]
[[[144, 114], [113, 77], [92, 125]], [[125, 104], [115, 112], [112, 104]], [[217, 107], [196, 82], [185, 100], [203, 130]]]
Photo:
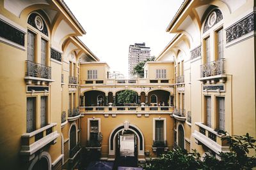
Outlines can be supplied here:
[[129, 122], [125, 122], [124, 124], [118, 125], [113, 131], [111, 132], [109, 136], [109, 155], [115, 155], [115, 148], [116, 148], [116, 143], [115, 139], [116, 136], [119, 132], [124, 131], [124, 130], [129, 130], [134, 132], [138, 138], [138, 155], [144, 155], [144, 150], [145, 150], [145, 139], [143, 136], [143, 133], [141, 130], [136, 126], [129, 124]]

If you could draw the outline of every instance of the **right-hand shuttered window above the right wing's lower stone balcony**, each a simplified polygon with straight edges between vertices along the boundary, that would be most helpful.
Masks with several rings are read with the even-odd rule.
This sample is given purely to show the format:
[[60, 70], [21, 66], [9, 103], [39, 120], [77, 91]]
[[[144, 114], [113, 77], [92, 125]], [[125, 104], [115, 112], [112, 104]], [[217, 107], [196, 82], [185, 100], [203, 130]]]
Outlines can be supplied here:
[[225, 131], [225, 97], [217, 97], [218, 129]]

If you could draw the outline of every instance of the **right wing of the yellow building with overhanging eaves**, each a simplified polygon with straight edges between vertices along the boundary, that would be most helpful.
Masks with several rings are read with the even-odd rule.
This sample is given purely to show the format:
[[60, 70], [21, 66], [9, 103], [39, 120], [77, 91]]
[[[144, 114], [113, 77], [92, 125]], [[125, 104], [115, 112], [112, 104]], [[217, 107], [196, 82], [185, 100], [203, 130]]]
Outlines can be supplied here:
[[[255, 138], [255, 1], [184, 1], [157, 61], [175, 62], [175, 145], [201, 155]], [[184, 136], [184, 137], [183, 137]]]

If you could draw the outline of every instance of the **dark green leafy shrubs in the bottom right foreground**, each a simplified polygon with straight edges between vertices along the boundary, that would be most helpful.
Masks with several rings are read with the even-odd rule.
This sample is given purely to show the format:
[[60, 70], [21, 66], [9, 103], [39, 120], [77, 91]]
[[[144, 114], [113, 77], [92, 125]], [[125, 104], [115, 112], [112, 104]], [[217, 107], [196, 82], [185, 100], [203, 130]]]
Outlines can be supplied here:
[[[230, 152], [221, 152], [217, 159], [206, 155], [200, 160], [200, 154], [193, 150], [189, 153], [180, 148], [164, 153], [159, 159], [151, 159], [145, 164], [146, 170], [162, 169], [252, 169], [256, 167], [256, 140], [248, 133], [244, 136], [226, 136], [223, 138], [230, 146]], [[254, 152], [254, 156], [248, 155]]]

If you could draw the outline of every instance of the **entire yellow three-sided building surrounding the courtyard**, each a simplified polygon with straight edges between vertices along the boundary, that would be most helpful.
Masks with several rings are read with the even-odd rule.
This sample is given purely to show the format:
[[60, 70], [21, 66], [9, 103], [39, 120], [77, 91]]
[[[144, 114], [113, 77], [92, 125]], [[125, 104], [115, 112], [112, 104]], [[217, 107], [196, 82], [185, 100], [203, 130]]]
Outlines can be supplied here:
[[1, 167], [115, 160], [131, 136], [141, 162], [176, 146], [218, 157], [225, 131], [255, 138], [254, 6], [184, 1], [166, 29], [174, 38], [126, 80], [77, 38], [86, 32], [63, 1], [1, 1]]

